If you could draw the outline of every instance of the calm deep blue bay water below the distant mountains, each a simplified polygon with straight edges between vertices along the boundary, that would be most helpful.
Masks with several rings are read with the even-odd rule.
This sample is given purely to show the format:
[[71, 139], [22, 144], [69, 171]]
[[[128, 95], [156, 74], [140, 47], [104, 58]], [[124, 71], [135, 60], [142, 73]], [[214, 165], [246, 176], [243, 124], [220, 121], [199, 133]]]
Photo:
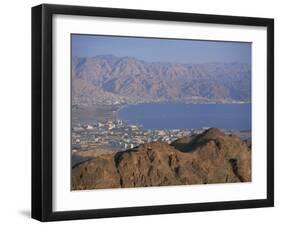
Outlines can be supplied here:
[[251, 130], [251, 104], [137, 104], [120, 109], [118, 117], [146, 129]]

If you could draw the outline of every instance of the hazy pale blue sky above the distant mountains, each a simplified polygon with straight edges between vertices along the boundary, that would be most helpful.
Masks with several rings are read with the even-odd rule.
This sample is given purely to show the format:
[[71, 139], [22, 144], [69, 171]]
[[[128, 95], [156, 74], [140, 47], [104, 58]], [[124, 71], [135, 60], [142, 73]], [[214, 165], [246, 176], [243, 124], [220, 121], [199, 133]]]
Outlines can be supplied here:
[[72, 35], [72, 56], [107, 54], [148, 62], [251, 63], [251, 43]]

